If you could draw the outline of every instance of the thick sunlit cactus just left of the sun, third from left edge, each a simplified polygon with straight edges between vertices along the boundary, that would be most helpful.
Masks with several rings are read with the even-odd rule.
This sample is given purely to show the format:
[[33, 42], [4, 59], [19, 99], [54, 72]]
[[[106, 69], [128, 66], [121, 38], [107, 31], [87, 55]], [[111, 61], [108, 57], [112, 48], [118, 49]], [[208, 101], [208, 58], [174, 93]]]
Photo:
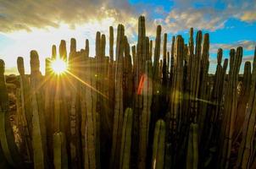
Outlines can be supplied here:
[[32, 145], [35, 168], [47, 168], [47, 138], [42, 98], [42, 74], [36, 51], [31, 51], [31, 113], [32, 113]]

